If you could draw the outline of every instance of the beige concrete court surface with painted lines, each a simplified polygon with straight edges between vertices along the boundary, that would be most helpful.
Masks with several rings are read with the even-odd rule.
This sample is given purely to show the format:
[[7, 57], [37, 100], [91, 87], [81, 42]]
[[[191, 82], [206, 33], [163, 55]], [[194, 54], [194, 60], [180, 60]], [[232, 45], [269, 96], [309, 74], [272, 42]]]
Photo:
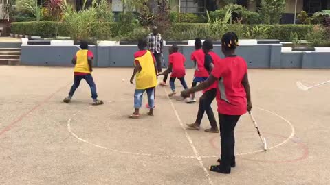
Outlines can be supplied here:
[[[0, 66], [0, 184], [330, 184], [330, 84], [296, 86], [325, 82], [329, 70], [249, 71], [254, 116], [270, 149], [262, 151], [242, 116], [230, 175], [208, 171], [219, 134], [183, 129], [195, 121], [197, 103], [168, 99], [170, 88], [157, 87], [155, 116], [127, 119], [132, 69], [94, 69], [105, 104], [91, 107], [85, 82], [65, 104], [72, 70]], [[201, 127], [208, 126], [205, 115]]]

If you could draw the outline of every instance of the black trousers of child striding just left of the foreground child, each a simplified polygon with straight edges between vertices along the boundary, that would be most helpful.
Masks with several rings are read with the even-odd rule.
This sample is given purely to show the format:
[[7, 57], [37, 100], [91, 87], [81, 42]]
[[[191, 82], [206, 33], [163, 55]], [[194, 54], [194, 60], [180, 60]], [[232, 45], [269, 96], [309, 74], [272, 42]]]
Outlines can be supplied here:
[[208, 121], [210, 121], [210, 125], [212, 128], [217, 128], [217, 121], [215, 121], [215, 117], [213, 114], [213, 110], [211, 107], [212, 101], [217, 96], [217, 88], [212, 88], [211, 90], [206, 91], [199, 98], [199, 108], [196, 118], [196, 123], [201, 125], [201, 120], [203, 119], [204, 112], [208, 115]]

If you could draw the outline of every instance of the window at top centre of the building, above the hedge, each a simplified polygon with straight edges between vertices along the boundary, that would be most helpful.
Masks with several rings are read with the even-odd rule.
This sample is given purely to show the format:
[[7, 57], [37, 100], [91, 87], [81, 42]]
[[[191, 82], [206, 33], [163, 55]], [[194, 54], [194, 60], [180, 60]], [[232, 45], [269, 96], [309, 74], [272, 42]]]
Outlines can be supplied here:
[[182, 13], [205, 13], [205, 1], [206, 0], [179, 0], [181, 1]]

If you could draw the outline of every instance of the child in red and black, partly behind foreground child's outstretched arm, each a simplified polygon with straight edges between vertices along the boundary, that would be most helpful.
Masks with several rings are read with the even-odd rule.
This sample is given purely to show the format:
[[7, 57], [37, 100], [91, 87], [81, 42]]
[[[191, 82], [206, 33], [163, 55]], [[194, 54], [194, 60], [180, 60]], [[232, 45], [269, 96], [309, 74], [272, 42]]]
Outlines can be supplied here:
[[[212, 72], [214, 65], [219, 62], [220, 57], [212, 51], [213, 44], [211, 40], [205, 40], [203, 42], [203, 52], [205, 53], [204, 67], [208, 73]], [[188, 128], [192, 130], [199, 130], [203, 114], [206, 112], [208, 120], [210, 121], [211, 128], [206, 129], [205, 132], [219, 133], [217, 121], [215, 120], [214, 113], [211, 107], [212, 101], [217, 95], [217, 82], [214, 82], [212, 86], [203, 91], [203, 95], [199, 99], [199, 108], [195, 123], [187, 124]]]

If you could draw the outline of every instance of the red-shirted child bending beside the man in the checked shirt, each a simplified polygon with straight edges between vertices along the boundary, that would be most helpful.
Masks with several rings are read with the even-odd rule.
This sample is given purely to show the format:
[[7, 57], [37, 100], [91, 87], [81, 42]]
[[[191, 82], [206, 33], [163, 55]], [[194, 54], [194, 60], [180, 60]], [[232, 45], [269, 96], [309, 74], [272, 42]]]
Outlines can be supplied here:
[[188, 86], [186, 84], [186, 81], [184, 79], [184, 76], [186, 75], [186, 69], [184, 67], [184, 62], [186, 62], [186, 58], [184, 58], [184, 55], [178, 52], [179, 48], [177, 45], [172, 45], [169, 49], [169, 62], [168, 62], [168, 69], [164, 71], [164, 73], [161, 73], [159, 75], [166, 75], [172, 71], [172, 74], [170, 75], [170, 88], [172, 89], [172, 93], [170, 93], [169, 96], [173, 96], [176, 94], [175, 91], [175, 79], [179, 79], [182, 86], [184, 86], [184, 89], [187, 89]]

